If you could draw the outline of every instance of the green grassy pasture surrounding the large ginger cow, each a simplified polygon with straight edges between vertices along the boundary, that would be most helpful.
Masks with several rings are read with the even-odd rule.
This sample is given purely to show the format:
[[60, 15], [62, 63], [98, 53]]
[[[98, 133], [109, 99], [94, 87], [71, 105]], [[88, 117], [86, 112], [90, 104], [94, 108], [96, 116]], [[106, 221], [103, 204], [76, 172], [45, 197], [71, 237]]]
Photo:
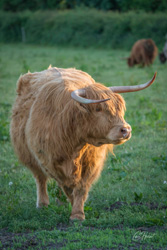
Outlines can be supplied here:
[[[128, 51], [0, 45], [0, 249], [167, 249], [167, 65], [129, 69]], [[149, 80], [155, 84], [124, 94], [133, 136], [115, 148], [85, 204], [86, 220], [69, 222], [71, 206], [58, 206], [49, 182], [50, 205], [37, 210], [31, 173], [13, 153], [11, 105], [21, 73], [49, 64], [76, 67], [106, 85]], [[63, 198], [62, 198], [63, 199]]]

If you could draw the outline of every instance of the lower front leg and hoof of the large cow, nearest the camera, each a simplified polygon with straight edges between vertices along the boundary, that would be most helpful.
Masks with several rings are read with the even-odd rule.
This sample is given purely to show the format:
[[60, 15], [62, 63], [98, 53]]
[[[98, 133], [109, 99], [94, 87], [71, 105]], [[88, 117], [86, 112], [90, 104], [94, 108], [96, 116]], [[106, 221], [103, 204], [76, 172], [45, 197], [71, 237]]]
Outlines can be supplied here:
[[73, 190], [73, 204], [70, 219], [84, 220], [84, 203], [88, 196], [87, 186], [77, 185]]

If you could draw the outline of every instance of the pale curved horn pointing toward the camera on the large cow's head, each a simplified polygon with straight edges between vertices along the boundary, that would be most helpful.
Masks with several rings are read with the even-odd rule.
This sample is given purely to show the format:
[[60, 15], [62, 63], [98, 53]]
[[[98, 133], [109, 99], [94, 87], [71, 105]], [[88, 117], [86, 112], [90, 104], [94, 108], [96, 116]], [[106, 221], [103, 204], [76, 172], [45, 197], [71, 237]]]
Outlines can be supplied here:
[[84, 103], [84, 104], [100, 103], [100, 102], [106, 102], [106, 101], [110, 100], [110, 98], [102, 99], [102, 100], [92, 100], [92, 99], [86, 99], [86, 98], [81, 97], [81, 96], [85, 96], [85, 95], [86, 95], [85, 89], [77, 89], [71, 93], [71, 97], [75, 101], [80, 102], [80, 103]]

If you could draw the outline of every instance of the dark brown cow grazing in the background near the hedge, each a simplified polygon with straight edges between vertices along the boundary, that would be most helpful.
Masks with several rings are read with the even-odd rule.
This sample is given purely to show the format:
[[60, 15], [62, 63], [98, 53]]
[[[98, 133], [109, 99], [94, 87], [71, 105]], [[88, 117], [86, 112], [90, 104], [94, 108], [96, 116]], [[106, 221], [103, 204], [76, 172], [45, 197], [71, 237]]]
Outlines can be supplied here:
[[129, 67], [135, 64], [149, 66], [153, 63], [158, 54], [157, 46], [152, 39], [138, 40], [132, 47], [130, 57], [127, 58]]

